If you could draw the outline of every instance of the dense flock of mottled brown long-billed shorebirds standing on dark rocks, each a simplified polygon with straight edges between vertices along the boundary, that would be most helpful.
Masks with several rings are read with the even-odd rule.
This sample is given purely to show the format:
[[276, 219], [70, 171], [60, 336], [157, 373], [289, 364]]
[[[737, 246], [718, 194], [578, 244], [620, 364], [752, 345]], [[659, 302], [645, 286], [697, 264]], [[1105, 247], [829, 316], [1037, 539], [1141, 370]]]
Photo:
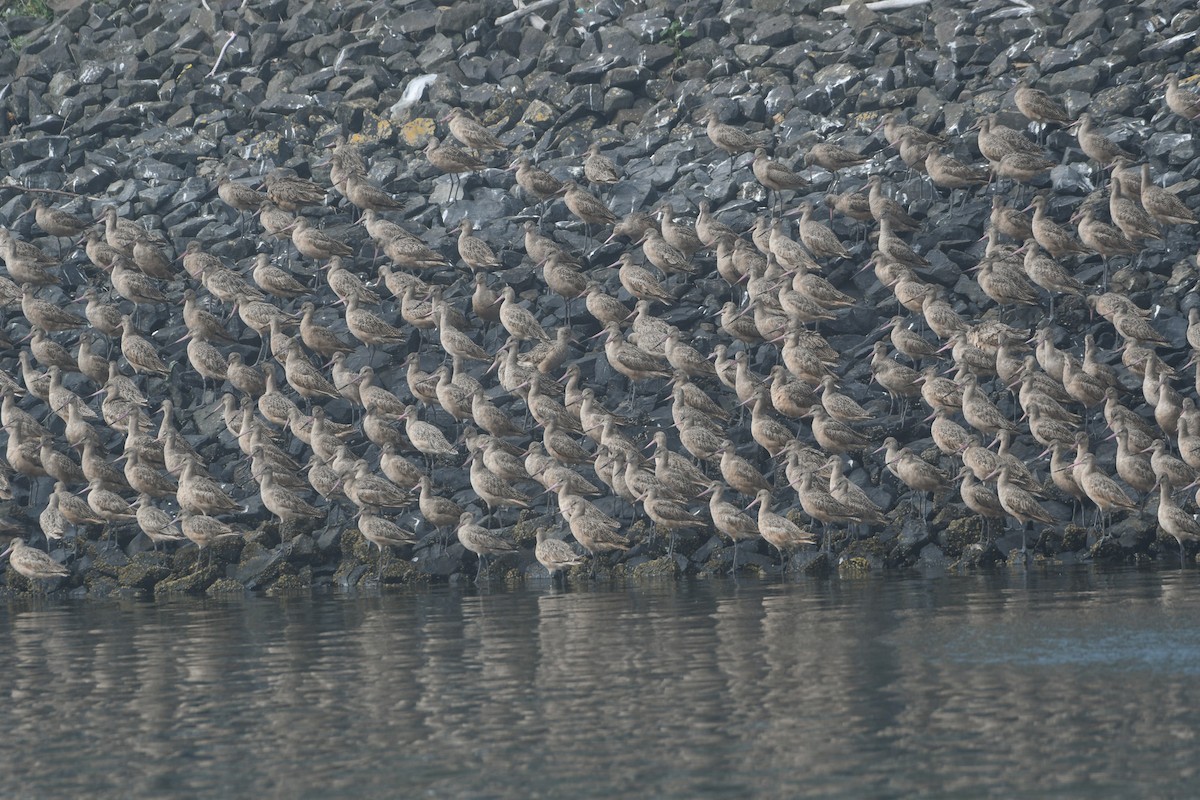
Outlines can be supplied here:
[[[774, 213], [762, 216], [746, 231], [748, 239], [724, 224], [707, 203], [700, 205], [694, 225], [680, 221], [670, 197], [653, 216], [634, 212], [618, 218], [578, 182], [563, 181], [518, 157], [509, 169], [524, 197], [541, 207], [560, 198], [586, 228], [611, 228], [613, 237], [640, 245], [642, 257], [635, 249], [625, 252], [613, 265], [619, 266], [613, 276], [607, 265], [589, 265], [582, 253], [526, 222], [528, 260], [539, 267], [545, 291], [559, 295], [566, 309], [566, 324], [547, 331], [514, 287], [494, 281], [502, 261], [493, 247], [511, 242], [485, 241], [476, 234], [486, 230], [476, 231], [463, 219], [456, 253], [450, 242], [431, 246], [409, 229], [410, 223], [388, 218], [402, 200], [367, 179], [364, 156], [344, 139], [328, 158], [328, 184], [276, 169], [258, 187], [236, 182], [228, 173], [216, 186], [223, 203], [253, 212], [265, 236], [290, 240], [301, 257], [317, 261], [337, 305], [314, 302], [320, 287], [298, 279], [265, 254], [239, 269], [193, 241], [182, 251], [180, 273], [178, 261], [166, 254], [163, 235], [121, 218], [114, 206], [103, 209], [98, 229], [91, 219], [35, 199], [29, 211], [36, 227], [52, 239], [78, 239], [102, 278], [73, 287], [85, 289], [73, 297], [73, 291], [65, 291], [70, 287], [64, 284], [59, 254], [0, 229], [0, 257], [11, 278], [0, 282], [0, 294], [7, 302], [19, 302], [30, 327], [30, 336], [12, 345], [19, 347], [20, 380], [0, 374], [0, 419], [7, 432], [8, 464], [31, 481], [30, 503], [41, 506], [37, 518], [47, 540], [42, 552], [14, 539], [8, 549], [12, 567], [35, 579], [67, 575], [48, 552], [49, 541], [62, 539], [72, 527], [82, 535], [91, 525], [107, 531], [136, 523], [156, 547], [186, 537], [205, 548], [241, 535], [228, 519], [244, 513], [247, 489], [284, 524], [324, 519], [334, 504], [348, 500], [362, 536], [380, 548], [416, 540], [395, 522], [397, 510], [415, 505], [434, 534], [454, 529], [482, 567], [486, 557], [511, 553], [516, 545], [493, 523], [480, 524], [475, 511], [439, 494], [433, 483], [433, 461], [461, 463], [463, 446], [470, 486], [492, 519], [499, 509], [540, 503], [529, 489], [540, 485], [584, 551], [593, 555], [626, 551], [628, 522], [593, 501], [612, 494], [641, 511], [655, 533], [668, 533], [672, 547], [677, 531], [715, 529], [734, 545], [766, 540], [786, 565], [787, 553], [817, 543], [814, 533], [797, 523], [799, 517], [776, 511], [788, 491], [796, 493], [803, 516], [821, 523], [826, 546], [834, 527], [848, 531], [895, 521], [893, 515], [889, 522], [890, 510], [877, 507], [847, 476], [845, 458], [851, 453], [884, 453], [882, 465], [922, 497], [956, 483], [971, 512], [985, 519], [1015, 519], [1022, 531], [1028, 523], [1064, 522], [1042, 503], [1048, 492], [1044, 471], [1012, 455], [1018, 437], [1032, 437], [1045, 449], [1052, 485], [1094, 506], [1102, 528], [1112, 512], [1138, 513], [1138, 495], [1157, 488], [1159, 527], [1180, 541], [1182, 551], [1186, 540], [1200, 537], [1200, 524], [1176, 500], [1176, 491], [1193, 486], [1200, 470], [1200, 411], [1186, 396], [1190, 392], [1176, 387], [1176, 371], [1156, 348], [1187, 344], [1200, 351], [1200, 313], [1192, 311], [1186, 343], [1168, 342], [1148, 313], [1128, 297], [1106, 290], [1088, 294], [1067, 259], [1099, 255], [1106, 264], [1128, 255], [1132, 260], [1146, 241], [1164, 237], [1163, 227], [1195, 224], [1195, 215], [1151, 180], [1148, 166], [1134, 169], [1135, 154], [1114, 144], [1086, 114], [1070, 119], [1058, 102], [1024, 82], [1014, 100], [1032, 122], [1073, 126], [1079, 149], [1111, 169], [1110, 188], [1080, 204], [1074, 231], [1051, 219], [1044, 196], [1034, 197], [1028, 217], [1006, 205], [997, 192], [986, 253], [976, 270], [979, 289], [1002, 311], [1043, 305], [1052, 309], [1055, 295], [1086, 295], [1087, 306], [1123, 339], [1123, 367], [1111, 366], [1091, 337], [1060, 349], [1049, 326], [1031, 339], [1028, 330], [1000, 321], [998, 314], [960, 315], [944, 288], [922, 278], [928, 261], [904, 235], [924, 223], [888, 196], [881, 175], [824, 196], [830, 216], [875, 228], [869, 265], [890, 288], [899, 314], [883, 326], [890, 335], [874, 342], [871, 373], [893, 402], [904, 401], [905, 413], [910, 398], [929, 405], [931, 426], [917, 427], [919, 435], [910, 441], [928, 431], [953, 461], [949, 470], [895, 438], [876, 441], [862, 433], [862, 423], [880, 420], [882, 409], [874, 403], [868, 404], [874, 410], [864, 408], [851, 396], [862, 392], [839, 385], [839, 373], [852, 356], [838, 353], [815, 329], [862, 303], [850, 287], [834, 285], [821, 275], [822, 264], [852, 253], [814, 217], [808, 201], [794, 212], [796, 239]], [[1166, 101], [1188, 120], [1200, 113], [1200, 98], [1175, 77], [1166, 80]], [[454, 110], [443, 121], [457, 144], [430, 139], [425, 156], [444, 174], [481, 170], [487, 167], [486, 154], [506, 150], [469, 113]], [[712, 143], [730, 156], [731, 172], [740, 154], [754, 154], [754, 178], [775, 193], [780, 206], [785, 192], [809, 186], [804, 175], [768, 156], [762, 132], [750, 134], [724, 124], [716, 110], [708, 110], [703, 121]], [[980, 118], [977, 127], [977, 146], [990, 168], [946, 155], [946, 139], [896, 114], [883, 116], [878, 130], [911, 169], [952, 191], [971, 191], [997, 179], [1027, 184], [1057, 163], [997, 116]], [[835, 176], [847, 169], [862, 174], [868, 161], [832, 143], [816, 144], [804, 156], [806, 166]], [[622, 180], [620, 168], [599, 146], [587, 151], [581, 167], [577, 176], [601, 190]], [[384, 258], [377, 270], [366, 257], [370, 247], [355, 253], [344, 237], [304, 216], [305, 209], [325, 205], [331, 191], [361, 215], [374, 258]], [[1111, 224], [1102, 218], [1103, 194]], [[1003, 237], [1019, 247], [1002, 243]], [[438, 284], [421, 277], [452, 278], [452, 255], [470, 270], [472, 281]], [[719, 329], [726, 343], [702, 353], [694, 347], [692, 332], [673, 327], [654, 309], [679, 302], [695, 276], [714, 270], [730, 287]], [[365, 279], [373, 275], [378, 282]], [[617, 282], [634, 300], [632, 308]], [[382, 297], [384, 290], [391, 302]], [[456, 305], [457, 299], [466, 302]], [[77, 312], [68, 307], [73, 302], [85, 306]], [[167, 306], [173, 318], [176, 312], [182, 318], [186, 363], [169, 363], [164, 343], [139, 329], [142, 306]], [[218, 306], [229, 309], [229, 317], [236, 313], [259, 337], [256, 363], [232, 348], [240, 336]], [[509, 335], [496, 353], [481, 345], [484, 330], [494, 324]], [[670, 381], [673, 429], [648, 431], [605, 408], [606, 386], [588, 386], [590, 375], [572, 359], [577, 348], [588, 347], [590, 339], [576, 336], [584, 329], [600, 331], [592, 338], [604, 337], [604, 356], [628, 379], [630, 401], [641, 385], [661, 391], [661, 381]], [[407, 386], [380, 385], [370, 365], [398, 360], [395, 354], [407, 353], [414, 331], [422, 332], [425, 345], [407, 357]], [[72, 351], [66, 344], [76, 332]], [[108, 339], [119, 345], [120, 359], [112, 357]], [[1032, 353], [1027, 339], [1036, 342]], [[440, 366], [424, 372], [421, 356], [427, 366], [433, 361]], [[365, 360], [366, 366], [350, 369], [350, 359]], [[487, 383], [468, 374], [473, 361], [492, 363], [484, 377]], [[769, 375], [755, 374], [754, 363], [774, 366]], [[914, 368], [918, 365], [923, 368]], [[172, 381], [188, 369], [199, 375], [206, 396], [209, 381], [228, 386], [220, 401], [227, 445], [248, 461], [257, 486], [214, 480], [176, 427], [180, 409], [173, 407], [172, 396], [190, 397], [188, 413], [200, 404], [186, 386]], [[953, 379], [946, 377], [950, 372]], [[493, 374], [494, 385], [488, 385]], [[1140, 381], [1145, 407], [1132, 402], [1135, 398], [1126, 390], [1126, 384], [1134, 385], [1129, 375]], [[997, 381], [989, 387], [992, 378]], [[1006, 391], [1014, 392], [1024, 422], [997, 404]], [[325, 403], [343, 398], [356, 409], [354, 419], [329, 419]], [[746, 409], [744, 431], [738, 426]], [[156, 429], [150, 425], [152, 413], [161, 415]], [[1115, 464], [1100, 464], [1090, 452], [1086, 422], [1092, 413], [1103, 416], [1116, 437]], [[52, 417], [60, 422], [47, 427]], [[800, 423], [802, 419], [809, 422]], [[749, 440], [743, 441], [745, 433]], [[307, 462], [294, 457], [299, 447], [288, 438], [304, 443], [311, 452]], [[998, 443], [998, 450], [983, 444], [988, 438]], [[113, 458], [106, 445], [116, 440], [124, 443], [122, 452]], [[649, 447], [654, 451], [648, 461], [643, 452]], [[115, 465], [119, 462], [124, 467]], [[37, 499], [43, 477], [54, 481], [44, 505]], [[324, 505], [314, 505], [313, 494]], [[698, 500], [706, 495], [707, 503]], [[701, 504], [707, 507], [697, 507]], [[757, 506], [754, 515], [748, 513], [751, 506]], [[986, 529], [984, 535], [990, 542]], [[584, 563], [583, 554], [550, 530], [538, 534], [535, 553], [551, 575]], [[67, 557], [65, 549], [58, 554]], [[737, 549], [733, 559], [736, 569]]]

